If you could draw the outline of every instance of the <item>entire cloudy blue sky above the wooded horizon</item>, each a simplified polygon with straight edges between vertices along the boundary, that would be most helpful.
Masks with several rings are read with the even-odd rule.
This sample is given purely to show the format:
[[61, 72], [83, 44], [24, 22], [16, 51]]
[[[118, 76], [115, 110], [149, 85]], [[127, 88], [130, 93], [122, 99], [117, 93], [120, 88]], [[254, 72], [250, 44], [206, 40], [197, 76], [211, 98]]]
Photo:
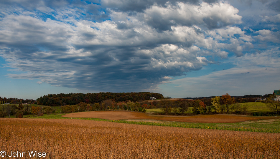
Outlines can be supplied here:
[[279, 0], [0, 0], [0, 96], [280, 89]]

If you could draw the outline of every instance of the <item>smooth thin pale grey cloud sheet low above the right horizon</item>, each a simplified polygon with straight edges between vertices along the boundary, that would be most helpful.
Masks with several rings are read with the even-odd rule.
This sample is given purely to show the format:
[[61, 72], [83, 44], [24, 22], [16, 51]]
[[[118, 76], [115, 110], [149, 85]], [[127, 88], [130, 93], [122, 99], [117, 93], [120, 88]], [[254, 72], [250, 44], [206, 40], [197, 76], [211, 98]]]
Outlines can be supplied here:
[[[232, 57], [235, 67], [215, 71], [204, 76], [173, 80], [176, 96], [201, 97], [229, 93], [233, 96], [271, 93], [279, 85], [279, 48], [272, 48], [260, 54], [245, 54]], [[238, 61], [238, 62], [237, 62]]]

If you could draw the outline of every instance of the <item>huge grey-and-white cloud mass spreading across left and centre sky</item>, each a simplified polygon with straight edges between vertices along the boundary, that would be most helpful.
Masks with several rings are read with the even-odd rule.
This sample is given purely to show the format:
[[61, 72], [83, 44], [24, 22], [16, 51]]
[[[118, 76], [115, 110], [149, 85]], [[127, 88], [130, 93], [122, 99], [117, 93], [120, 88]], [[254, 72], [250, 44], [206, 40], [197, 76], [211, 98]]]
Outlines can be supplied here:
[[[139, 8], [129, 8], [131, 3]], [[225, 1], [0, 4], [9, 6], [0, 16], [0, 56], [20, 72], [7, 76], [39, 79], [38, 84], [156, 89], [173, 80], [169, 76], [183, 76], [253, 48], [252, 36], [234, 26], [242, 23], [238, 9]], [[266, 37], [256, 33], [261, 36], [257, 40]]]

